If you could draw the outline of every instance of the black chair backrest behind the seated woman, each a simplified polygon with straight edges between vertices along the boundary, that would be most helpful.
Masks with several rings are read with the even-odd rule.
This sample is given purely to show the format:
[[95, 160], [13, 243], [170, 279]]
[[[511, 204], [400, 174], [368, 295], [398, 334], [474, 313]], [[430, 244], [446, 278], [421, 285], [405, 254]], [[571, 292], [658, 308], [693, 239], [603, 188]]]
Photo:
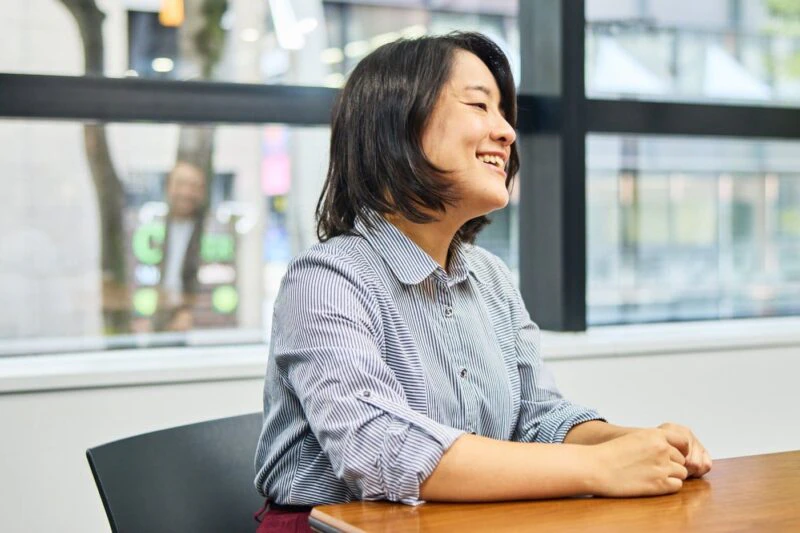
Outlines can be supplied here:
[[86, 451], [115, 533], [253, 533], [261, 414], [210, 420]]

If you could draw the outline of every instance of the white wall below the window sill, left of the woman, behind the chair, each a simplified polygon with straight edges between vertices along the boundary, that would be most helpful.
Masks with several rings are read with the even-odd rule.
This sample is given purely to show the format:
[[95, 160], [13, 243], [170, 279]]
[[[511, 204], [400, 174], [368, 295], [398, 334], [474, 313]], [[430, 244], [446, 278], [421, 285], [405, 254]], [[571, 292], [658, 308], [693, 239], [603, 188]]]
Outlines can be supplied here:
[[0, 395], [0, 530], [110, 531], [87, 448], [254, 412], [261, 390], [249, 379]]

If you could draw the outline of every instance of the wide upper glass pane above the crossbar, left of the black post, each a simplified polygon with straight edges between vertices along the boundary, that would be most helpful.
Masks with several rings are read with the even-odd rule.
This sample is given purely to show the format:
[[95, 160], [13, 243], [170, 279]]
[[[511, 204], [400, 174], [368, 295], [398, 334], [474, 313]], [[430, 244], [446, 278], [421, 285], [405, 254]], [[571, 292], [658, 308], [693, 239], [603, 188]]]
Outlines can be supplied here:
[[6, 2], [0, 72], [339, 87], [375, 47], [453, 29], [487, 33], [519, 64], [517, 0], [71, 3]]

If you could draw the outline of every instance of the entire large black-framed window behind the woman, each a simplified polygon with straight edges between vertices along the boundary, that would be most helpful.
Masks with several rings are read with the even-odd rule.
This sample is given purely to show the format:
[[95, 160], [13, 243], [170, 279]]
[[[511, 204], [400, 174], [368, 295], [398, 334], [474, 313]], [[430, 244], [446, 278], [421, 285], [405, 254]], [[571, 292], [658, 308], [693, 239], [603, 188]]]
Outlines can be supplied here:
[[[315, 240], [337, 88], [383, 42], [452, 29], [517, 70], [523, 167], [479, 243], [543, 328], [800, 312], [791, 2], [220, 0], [165, 27], [160, 2], [109, 0], [81, 21], [103, 32], [88, 64], [68, 4], [4, 11], [0, 289], [26, 303], [2, 353], [261, 340]], [[181, 238], [167, 175], [201, 152], [203, 231]], [[159, 325], [193, 238], [196, 314]]]

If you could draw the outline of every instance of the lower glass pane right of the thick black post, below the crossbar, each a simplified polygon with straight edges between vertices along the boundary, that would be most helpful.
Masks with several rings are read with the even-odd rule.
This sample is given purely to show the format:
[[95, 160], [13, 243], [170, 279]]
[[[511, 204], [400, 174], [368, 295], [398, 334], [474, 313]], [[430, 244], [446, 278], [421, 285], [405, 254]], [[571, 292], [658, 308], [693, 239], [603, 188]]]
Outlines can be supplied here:
[[800, 313], [800, 142], [587, 138], [588, 322]]

